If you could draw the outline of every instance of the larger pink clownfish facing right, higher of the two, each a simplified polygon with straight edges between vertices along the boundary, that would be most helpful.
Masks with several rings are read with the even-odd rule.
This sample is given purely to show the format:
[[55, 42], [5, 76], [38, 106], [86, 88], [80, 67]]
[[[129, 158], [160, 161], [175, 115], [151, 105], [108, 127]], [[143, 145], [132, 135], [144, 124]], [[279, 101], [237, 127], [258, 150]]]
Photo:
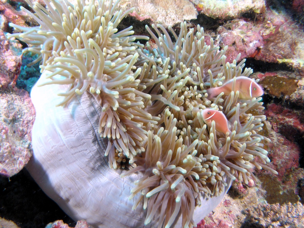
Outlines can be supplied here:
[[[233, 78], [229, 81], [226, 81], [222, 86], [213, 87], [207, 89], [208, 99], [216, 97], [221, 92], [224, 92], [224, 95], [229, 95], [232, 91]], [[258, 85], [251, 78], [245, 76], [240, 76], [236, 78], [235, 81], [235, 90], [234, 92], [239, 91], [239, 98], [250, 100], [254, 97], [260, 97], [263, 95], [263, 88]]]

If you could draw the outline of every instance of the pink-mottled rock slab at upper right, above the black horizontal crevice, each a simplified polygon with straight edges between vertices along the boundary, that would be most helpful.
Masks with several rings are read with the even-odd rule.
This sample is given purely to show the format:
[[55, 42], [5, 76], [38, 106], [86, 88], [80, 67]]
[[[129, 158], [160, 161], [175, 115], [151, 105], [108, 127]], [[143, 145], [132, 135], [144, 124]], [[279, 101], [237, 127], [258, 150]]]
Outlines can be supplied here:
[[228, 45], [226, 62], [240, 53], [241, 59], [254, 58], [302, 68], [304, 36], [289, 16], [267, 8], [256, 21], [234, 19], [220, 26], [217, 33], [219, 45]]

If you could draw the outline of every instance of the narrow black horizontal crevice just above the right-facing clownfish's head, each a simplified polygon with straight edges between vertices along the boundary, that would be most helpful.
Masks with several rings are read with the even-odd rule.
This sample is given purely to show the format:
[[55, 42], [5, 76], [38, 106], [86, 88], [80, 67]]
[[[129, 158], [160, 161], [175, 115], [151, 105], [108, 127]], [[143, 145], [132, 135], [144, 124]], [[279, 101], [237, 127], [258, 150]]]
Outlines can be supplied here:
[[271, 72], [271, 71], [292, 71], [292, 68], [284, 63], [265, 63], [261, 60], [255, 60], [254, 58], [246, 59], [246, 67], [251, 67], [254, 69], [254, 72]]

